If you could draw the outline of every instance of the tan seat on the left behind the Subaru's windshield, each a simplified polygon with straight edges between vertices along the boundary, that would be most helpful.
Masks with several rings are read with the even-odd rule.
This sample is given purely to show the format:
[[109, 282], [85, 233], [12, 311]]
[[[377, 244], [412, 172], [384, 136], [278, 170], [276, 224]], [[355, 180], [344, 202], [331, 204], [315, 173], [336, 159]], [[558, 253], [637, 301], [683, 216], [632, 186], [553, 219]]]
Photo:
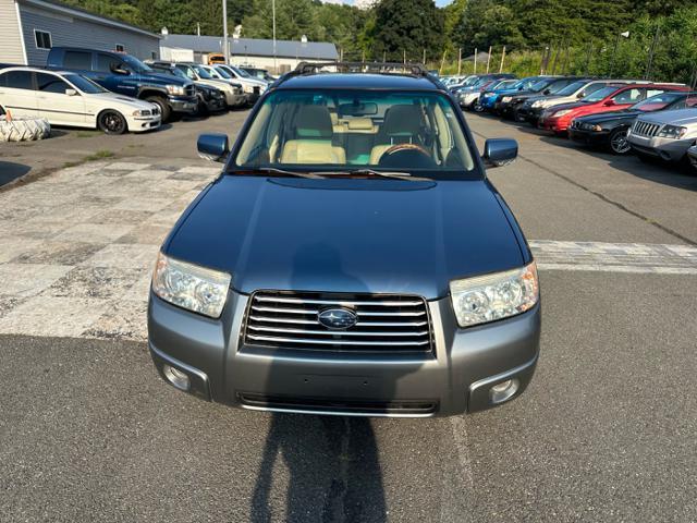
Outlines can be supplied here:
[[344, 148], [332, 144], [331, 115], [326, 107], [303, 106], [293, 125], [295, 138], [283, 145], [282, 163], [346, 162]]

